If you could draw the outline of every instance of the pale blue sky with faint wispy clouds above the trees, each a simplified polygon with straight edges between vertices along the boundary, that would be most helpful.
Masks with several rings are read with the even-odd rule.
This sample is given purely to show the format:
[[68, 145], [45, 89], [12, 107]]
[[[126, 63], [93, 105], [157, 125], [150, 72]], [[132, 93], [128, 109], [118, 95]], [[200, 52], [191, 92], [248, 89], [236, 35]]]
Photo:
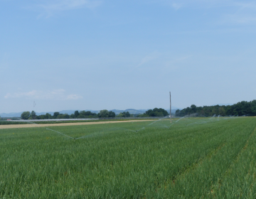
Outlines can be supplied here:
[[255, 33], [256, 1], [0, 0], [0, 112], [251, 101]]

